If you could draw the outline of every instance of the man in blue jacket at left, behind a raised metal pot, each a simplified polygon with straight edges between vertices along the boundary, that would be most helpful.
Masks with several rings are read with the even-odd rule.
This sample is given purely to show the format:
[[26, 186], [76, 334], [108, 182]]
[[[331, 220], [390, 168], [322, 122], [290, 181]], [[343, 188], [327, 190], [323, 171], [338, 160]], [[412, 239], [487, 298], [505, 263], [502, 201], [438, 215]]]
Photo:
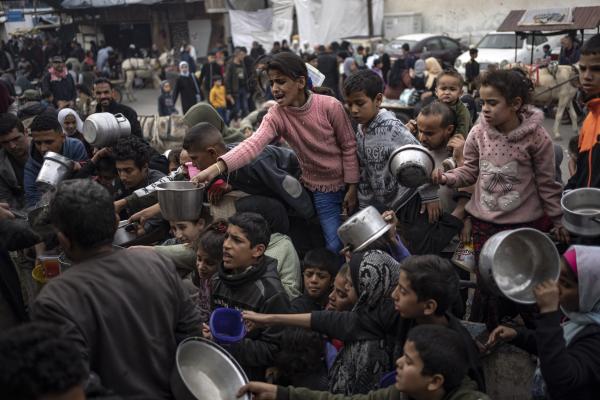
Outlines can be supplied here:
[[42, 197], [35, 180], [44, 163], [44, 156], [49, 151], [58, 153], [73, 161], [87, 161], [85, 146], [78, 139], [66, 137], [54, 112], [45, 112], [33, 119], [31, 126], [30, 156], [25, 164], [24, 186], [25, 204], [33, 207]]

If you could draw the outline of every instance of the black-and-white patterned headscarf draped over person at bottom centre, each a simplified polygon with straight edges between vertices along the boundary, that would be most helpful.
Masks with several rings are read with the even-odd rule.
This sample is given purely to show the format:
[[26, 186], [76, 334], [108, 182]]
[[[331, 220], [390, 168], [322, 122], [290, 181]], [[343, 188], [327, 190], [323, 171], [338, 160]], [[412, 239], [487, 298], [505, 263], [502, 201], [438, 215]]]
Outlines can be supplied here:
[[[368, 313], [389, 298], [400, 275], [400, 264], [381, 250], [355, 253], [350, 260], [352, 285], [358, 300], [352, 312]], [[329, 375], [329, 391], [346, 396], [376, 389], [384, 373], [393, 368], [392, 349], [385, 340], [345, 343]]]

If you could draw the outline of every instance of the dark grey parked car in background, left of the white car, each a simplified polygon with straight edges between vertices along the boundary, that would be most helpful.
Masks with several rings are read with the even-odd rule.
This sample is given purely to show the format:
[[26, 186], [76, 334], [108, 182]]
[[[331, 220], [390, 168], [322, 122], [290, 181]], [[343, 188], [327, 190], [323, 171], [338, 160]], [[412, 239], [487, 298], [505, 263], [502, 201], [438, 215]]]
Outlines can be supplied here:
[[402, 55], [402, 45], [407, 43], [410, 47], [409, 53], [417, 58], [426, 59], [435, 57], [445, 66], [452, 66], [456, 58], [467, 50], [467, 47], [456, 39], [444, 35], [431, 33], [415, 33], [411, 35], [398, 36], [386, 46], [391, 58]]

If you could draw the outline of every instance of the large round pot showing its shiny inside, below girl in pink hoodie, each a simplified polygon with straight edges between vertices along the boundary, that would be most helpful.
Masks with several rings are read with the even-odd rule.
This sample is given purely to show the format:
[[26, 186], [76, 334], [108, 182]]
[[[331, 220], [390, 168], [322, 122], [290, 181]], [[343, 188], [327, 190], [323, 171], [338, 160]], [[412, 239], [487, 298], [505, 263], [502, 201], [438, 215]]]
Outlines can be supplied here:
[[536, 229], [502, 231], [483, 245], [479, 273], [493, 292], [517, 303], [533, 304], [533, 288], [558, 279], [560, 256], [554, 242]]

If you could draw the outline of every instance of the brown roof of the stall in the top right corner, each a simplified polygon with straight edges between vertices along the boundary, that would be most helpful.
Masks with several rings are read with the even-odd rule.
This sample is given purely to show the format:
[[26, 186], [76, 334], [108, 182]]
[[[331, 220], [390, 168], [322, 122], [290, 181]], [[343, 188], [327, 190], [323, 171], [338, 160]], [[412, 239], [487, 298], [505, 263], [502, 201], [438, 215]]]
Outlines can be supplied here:
[[593, 29], [600, 25], [600, 7], [575, 7], [573, 9], [573, 23], [562, 25], [519, 25], [525, 10], [512, 10], [500, 27], [498, 32], [539, 32], [563, 31], [568, 29]]

